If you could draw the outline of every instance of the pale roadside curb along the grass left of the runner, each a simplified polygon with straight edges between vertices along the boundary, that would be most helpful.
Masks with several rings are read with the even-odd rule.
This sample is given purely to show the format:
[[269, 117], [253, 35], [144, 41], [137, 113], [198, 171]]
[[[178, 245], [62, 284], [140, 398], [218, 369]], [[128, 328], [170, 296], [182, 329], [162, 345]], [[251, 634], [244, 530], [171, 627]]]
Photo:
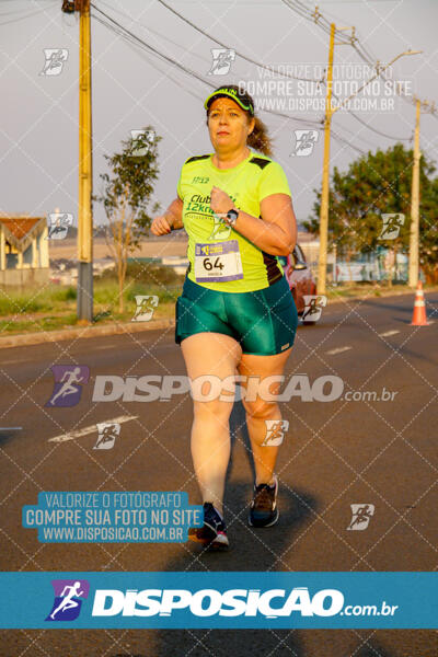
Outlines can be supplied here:
[[69, 338], [99, 337], [101, 335], [120, 335], [122, 333], [140, 333], [169, 328], [175, 325], [175, 320], [152, 320], [151, 322], [127, 322], [106, 324], [105, 326], [80, 326], [78, 328], [61, 328], [59, 331], [41, 331], [38, 333], [21, 333], [0, 337], [0, 349], [20, 347], [22, 345], [38, 345], [47, 342], [58, 342]]

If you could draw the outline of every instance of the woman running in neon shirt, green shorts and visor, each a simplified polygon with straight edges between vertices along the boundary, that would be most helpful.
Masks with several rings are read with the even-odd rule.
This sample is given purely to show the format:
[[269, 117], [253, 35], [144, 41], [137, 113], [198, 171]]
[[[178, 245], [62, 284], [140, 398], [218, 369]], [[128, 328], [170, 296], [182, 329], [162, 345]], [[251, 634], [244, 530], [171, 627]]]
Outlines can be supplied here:
[[[281, 426], [281, 413], [258, 387], [266, 377], [283, 374], [297, 331], [293, 297], [277, 260], [293, 249], [297, 226], [286, 175], [269, 158], [269, 138], [254, 116], [252, 97], [238, 87], [221, 87], [207, 97], [205, 108], [215, 152], [185, 161], [177, 197], [151, 230], [162, 235], [184, 227], [188, 234], [189, 265], [176, 301], [175, 342], [193, 389], [203, 377], [223, 383], [216, 399], [204, 388], [205, 399], [193, 395], [191, 448], [204, 527], [191, 529], [189, 538], [227, 549], [222, 500], [235, 374], [247, 396], [242, 402], [256, 474], [249, 523], [270, 527], [278, 520], [274, 469], [279, 441], [269, 445], [268, 427]], [[278, 390], [279, 382], [269, 387], [273, 395]]]

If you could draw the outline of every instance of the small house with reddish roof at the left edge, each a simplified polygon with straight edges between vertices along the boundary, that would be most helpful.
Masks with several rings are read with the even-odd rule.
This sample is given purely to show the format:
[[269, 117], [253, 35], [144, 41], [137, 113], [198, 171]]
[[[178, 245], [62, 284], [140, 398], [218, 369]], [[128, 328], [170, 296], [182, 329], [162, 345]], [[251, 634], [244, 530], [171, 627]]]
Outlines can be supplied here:
[[0, 285], [48, 283], [46, 217], [0, 215]]

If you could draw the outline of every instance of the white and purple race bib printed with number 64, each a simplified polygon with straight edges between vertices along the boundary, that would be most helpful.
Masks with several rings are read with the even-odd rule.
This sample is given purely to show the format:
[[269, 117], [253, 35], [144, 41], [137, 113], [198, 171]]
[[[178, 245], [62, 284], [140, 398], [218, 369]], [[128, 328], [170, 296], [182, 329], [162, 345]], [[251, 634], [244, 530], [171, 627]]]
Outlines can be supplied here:
[[238, 240], [195, 245], [195, 279], [198, 283], [243, 278]]

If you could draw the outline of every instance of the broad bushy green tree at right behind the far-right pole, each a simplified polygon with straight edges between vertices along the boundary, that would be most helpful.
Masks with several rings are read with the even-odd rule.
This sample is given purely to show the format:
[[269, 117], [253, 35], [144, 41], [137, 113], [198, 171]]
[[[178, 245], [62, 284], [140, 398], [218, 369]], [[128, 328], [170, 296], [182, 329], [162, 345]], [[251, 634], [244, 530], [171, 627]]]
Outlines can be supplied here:
[[[396, 143], [387, 151], [368, 152], [349, 164], [346, 173], [333, 170], [328, 200], [328, 246], [347, 262], [359, 253], [385, 246], [393, 252], [408, 253], [411, 224], [411, 185], [413, 151]], [[420, 159], [420, 264], [428, 279], [437, 276], [438, 249], [436, 216], [438, 211], [438, 181], [433, 178], [434, 164]], [[320, 228], [321, 193], [315, 189], [313, 217], [304, 222], [312, 233]], [[382, 215], [402, 214], [395, 239], [382, 235]], [[392, 272], [389, 276], [392, 279]]]

